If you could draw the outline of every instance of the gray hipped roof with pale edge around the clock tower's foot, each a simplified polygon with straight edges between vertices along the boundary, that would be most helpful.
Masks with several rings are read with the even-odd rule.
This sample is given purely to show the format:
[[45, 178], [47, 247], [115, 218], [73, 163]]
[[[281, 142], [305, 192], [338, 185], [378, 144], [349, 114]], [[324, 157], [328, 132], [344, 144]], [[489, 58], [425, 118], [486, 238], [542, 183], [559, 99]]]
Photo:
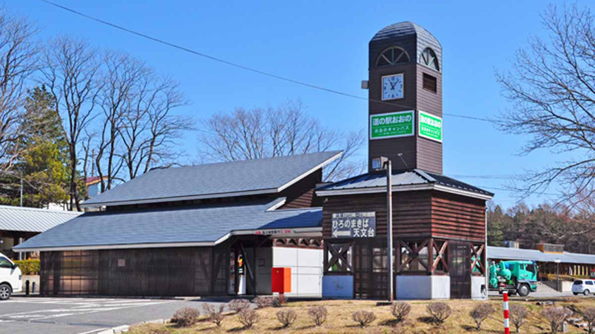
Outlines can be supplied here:
[[[411, 169], [409, 171], [393, 171], [392, 175], [393, 187], [403, 185], [420, 185], [420, 184], [440, 184], [450, 188], [471, 191], [478, 194], [493, 196], [493, 193], [466, 184], [444, 175], [425, 172], [421, 169]], [[375, 188], [386, 186], [386, 174], [384, 173], [367, 173], [339, 181], [324, 187], [318, 188], [318, 191], [327, 190], [349, 190], [359, 188]]]

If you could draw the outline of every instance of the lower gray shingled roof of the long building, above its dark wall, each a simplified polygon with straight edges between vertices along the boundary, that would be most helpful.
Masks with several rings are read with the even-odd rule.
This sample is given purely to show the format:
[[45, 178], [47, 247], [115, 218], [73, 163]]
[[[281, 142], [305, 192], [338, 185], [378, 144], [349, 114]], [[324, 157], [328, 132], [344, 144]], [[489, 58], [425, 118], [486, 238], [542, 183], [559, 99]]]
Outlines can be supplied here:
[[106, 245], [127, 248], [139, 244], [215, 242], [230, 231], [321, 226], [321, 207], [267, 211], [283, 200], [87, 212], [30, 238], [14, 250]]

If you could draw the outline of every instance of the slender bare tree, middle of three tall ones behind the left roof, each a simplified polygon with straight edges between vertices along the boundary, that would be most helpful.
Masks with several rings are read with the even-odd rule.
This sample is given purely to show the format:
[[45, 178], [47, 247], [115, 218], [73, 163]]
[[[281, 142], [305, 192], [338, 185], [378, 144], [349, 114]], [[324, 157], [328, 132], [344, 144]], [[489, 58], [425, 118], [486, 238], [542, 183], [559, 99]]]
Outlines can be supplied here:
[[137, 94], [136, 85], [143, 76], [151, 75], [150, 68], [126, 53], [106, 52], [103, 64], [105, 73], [101, 78], [99, 94], [99, 105], [103, 112], [98, 122], [101, 128], [94, 156], [102, 193], [112, 188], [114, 179], [123, 167], [124, 159], [118, 152], [118, 144], [121, 130], [126, 126], [125, 119], [131, 112], [130, 101]]

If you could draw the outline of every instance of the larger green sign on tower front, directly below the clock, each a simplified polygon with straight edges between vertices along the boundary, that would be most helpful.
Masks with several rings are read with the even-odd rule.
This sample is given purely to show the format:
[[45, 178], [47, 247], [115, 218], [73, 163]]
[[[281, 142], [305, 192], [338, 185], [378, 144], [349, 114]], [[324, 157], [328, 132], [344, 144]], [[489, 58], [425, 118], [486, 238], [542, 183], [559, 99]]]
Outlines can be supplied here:
[[370, 139], [413, 136], [415, 111], [370, 115]]

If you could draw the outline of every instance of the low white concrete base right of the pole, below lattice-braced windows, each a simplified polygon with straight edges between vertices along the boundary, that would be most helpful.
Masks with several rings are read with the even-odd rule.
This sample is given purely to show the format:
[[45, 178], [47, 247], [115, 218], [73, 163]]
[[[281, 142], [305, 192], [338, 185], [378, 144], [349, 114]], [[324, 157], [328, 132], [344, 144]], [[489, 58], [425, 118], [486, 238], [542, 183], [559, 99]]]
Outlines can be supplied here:
[[449, 276], [396, 276], [397, 300], [450, 298]]

